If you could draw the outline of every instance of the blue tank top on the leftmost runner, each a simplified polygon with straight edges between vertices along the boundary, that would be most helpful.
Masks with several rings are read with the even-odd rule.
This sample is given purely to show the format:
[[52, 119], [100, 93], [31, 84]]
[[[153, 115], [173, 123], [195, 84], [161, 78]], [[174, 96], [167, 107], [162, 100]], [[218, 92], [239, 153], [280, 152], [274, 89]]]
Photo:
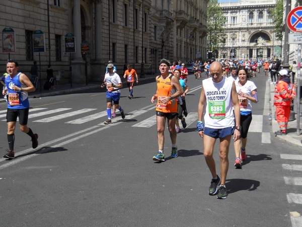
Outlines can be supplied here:
[[26, 91], [13, 91], [13, 86], [17, 87], [26, 87], [20, 82], [19, 76], [21, 73], [18, 73], [11, 79], [11, 76], [8, 76], [5, 79], [5, 84], [8, 88], [8, 108], [11, 109], [25, 109], [29, 108], [28, 93]]

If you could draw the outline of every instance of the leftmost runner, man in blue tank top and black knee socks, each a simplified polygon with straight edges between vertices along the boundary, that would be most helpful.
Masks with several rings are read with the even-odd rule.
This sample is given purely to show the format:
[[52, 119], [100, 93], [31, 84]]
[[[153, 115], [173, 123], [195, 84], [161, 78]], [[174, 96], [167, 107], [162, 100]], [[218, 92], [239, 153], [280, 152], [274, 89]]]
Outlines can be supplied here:
[[14, 143], [17, 118], [19, 118], [20, 130], [31, 137], [33, 149], [38, 146], [38, 134], [34, 134], [27, 126], [30, 107], [28, 92], [35, 91], [35, 87], [25, 74], [19, 72], [19, 64], [16, 61], [8, 61], [7, 72], [9, 75], [5, 77], [6, 88], [2, 93], [3, 95], [8, 95], [9, 150], [3, 157], [13, 159], [15, 158]]

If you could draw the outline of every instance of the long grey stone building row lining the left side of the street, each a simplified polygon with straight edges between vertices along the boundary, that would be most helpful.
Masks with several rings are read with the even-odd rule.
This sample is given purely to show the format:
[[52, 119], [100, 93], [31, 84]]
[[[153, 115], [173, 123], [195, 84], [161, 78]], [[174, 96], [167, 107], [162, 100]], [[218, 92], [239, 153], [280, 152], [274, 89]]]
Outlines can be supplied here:
[[17, 60], [23, 72], [38, 61], [41, 80], [51, 64], [60, 83], [87, 83], [102, 80], [109, 60], [119, 74], [127, 62], [143, 77], [156, 72], [162, 58], [206, 58], [206, 0], [2, 0], [1, 4], [3, 71], [8, 58]]

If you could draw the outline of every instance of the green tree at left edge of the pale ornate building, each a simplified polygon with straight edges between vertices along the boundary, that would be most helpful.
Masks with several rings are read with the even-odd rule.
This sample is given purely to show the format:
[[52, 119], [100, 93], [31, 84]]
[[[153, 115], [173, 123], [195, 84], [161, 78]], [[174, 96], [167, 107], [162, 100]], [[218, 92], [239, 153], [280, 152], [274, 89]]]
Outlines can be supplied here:
[[209, 0], [207, 7], [207, 49], [214, 51], [224, 37], [225, 18], [217, 0]]

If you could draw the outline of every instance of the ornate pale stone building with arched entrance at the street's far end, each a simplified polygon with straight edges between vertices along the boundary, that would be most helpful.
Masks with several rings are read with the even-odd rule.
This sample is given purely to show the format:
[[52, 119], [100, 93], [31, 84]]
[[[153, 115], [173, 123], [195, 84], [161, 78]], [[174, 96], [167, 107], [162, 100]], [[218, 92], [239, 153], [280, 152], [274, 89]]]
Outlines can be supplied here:
[[281, 41], [273, 33], [271, 9], [275, 0], [220, 3], [225, 17], [225, 38], [216, 47], [220, 59], [281, 57]]

